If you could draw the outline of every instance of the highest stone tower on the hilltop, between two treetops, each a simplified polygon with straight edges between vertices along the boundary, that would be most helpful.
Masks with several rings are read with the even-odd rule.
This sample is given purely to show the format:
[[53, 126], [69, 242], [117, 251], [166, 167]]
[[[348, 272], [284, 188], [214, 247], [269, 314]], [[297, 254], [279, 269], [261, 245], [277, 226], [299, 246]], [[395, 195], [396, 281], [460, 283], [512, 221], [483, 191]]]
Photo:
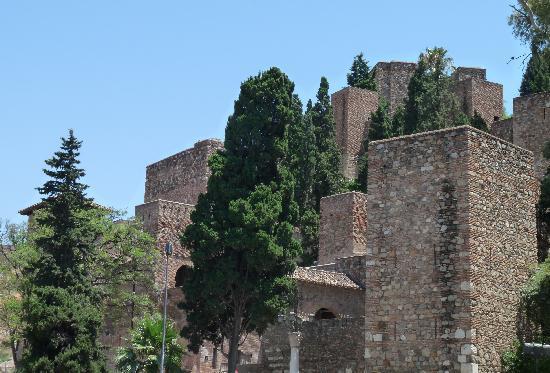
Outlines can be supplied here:
[[374, 66], [374, 78], [381, 97], [389, 103], [390, 113], [404, 104], [411, 77], [416, 70], [412, 62], [378, 62]]

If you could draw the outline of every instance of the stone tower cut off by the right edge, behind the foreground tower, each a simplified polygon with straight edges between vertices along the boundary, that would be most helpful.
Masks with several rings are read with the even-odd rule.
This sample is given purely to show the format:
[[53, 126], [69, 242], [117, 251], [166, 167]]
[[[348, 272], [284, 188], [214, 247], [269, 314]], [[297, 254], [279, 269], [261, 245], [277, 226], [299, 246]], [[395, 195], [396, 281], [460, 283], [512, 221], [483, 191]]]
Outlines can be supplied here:
[[550, 141], [550, 93], [514, 99], [514, 144], [529, 149], [535, 157], [535, 173], [542, 179], [549, 166], [542, 156]]

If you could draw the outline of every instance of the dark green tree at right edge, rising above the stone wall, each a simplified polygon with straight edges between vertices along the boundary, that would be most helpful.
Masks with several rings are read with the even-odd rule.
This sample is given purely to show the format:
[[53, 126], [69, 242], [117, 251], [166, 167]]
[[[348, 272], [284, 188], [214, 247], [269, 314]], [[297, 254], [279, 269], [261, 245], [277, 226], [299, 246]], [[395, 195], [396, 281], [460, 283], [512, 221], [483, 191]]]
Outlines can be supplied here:
[[531, 58], [523, 73], [519, 93], [521, 96], [550, 91], [550, 47], [531, 48]]

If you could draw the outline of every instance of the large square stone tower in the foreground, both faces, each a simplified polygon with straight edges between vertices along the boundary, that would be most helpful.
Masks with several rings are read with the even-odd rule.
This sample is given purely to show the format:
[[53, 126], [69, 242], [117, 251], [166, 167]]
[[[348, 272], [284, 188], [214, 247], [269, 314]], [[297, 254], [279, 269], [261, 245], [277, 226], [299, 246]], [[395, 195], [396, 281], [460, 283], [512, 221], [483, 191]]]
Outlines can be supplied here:
[[[476, 157], [490, 161], [487, 169]], [[489, 318], [515, 318], [523, 264], [534, 263], [536, 253], [529, 152], [457, 127], [374, 142], [369, 162], [367, 369], [498, 370], [495, 353], [513, 338], [515, 324], [497, 326]], [[502, 233], [507, 220], [491, 217], [493, 208], [517, 217], [512, 232]], [[480, 237], [489, 228], [500, 233], [490, 235], [492, 242]], [[482, 264], [488, 250], [491, 270]], [[512, 254], [519, 265], [502, 260]], [[504, 297], [506, 307], [487, 309]], [[504, 342], [488, 347], [480, 337], [488, 335]]]

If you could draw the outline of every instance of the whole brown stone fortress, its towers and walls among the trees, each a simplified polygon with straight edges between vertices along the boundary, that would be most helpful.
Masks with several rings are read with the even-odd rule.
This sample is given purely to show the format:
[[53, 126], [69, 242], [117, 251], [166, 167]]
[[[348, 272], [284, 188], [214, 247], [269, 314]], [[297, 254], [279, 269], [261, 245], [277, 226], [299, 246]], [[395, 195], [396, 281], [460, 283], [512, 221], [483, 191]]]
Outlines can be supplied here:
[[[348, 87], [332, 95], [346, 177], [357, 173], [379, 97], [392, 111], [401, 105], [415, 66], [379, 63], [379, 94]], [[535, 152], [533, 171], [533, 155], [510, 142], [533, 151], [542, 147], [550, 135], [550, 100], [518, 99], [513, 120], [493, 122], [502, 114], [502, 86], [487, 82], [484, 69], [459, 68], [454, 78], [465, 112], [480, 113], [491, 132], [508, 142], [461, 127], [375, 143], [369, 148], [368, 198], [344, 193], [322, 199], [319, 263], [293, 275], [297, 310], [308, 320], [302, 323], [303, 371], [497, 371], [498, 353], [513, 338], [517, 290], [535, 262], [533, 175], [545, 167]], [[178, 285], [178, 271], [191, 265], [176, 238], [206, 190], [207, 159], [221, 147], [206, 140], [147, 167], [145, 203], [136, 216], [159, 249], [176, 243], [171, 287]], [[519, 265], [510, 268], [507, 256]], [[178, 289], [170, 294], [171, 312], [182, 324], [174, 305], [183, 295]], [[247, 346], [243, 355], [254, 358], [246, 361], [258, 362], [239, 371], [285, 371], [285, 333], [288, 328], [275, 325], [262, 337], [262, 348]], [[339, 338], [346, 342], [334, 343]], [[209, 348], [192, 357], [196, 371], [208, 371]]]

